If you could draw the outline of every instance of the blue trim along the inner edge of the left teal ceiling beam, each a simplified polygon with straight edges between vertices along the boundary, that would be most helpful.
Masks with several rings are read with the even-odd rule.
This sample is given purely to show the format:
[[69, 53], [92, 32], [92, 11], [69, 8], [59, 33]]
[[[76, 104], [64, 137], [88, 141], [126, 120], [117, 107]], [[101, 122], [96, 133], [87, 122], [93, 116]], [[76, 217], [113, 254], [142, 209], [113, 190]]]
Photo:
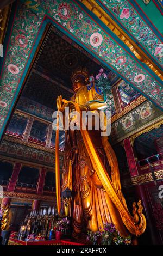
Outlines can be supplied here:
[[28, 59], [28, 62], [27, 62], [27, 64], [26, 64], [26, 68], [25, 68], [24, 71], [23, 71], [23, 75], [22, 75], [22, 77], [21, 77], [20, 83], [18, 84], [16, 93], [15, 93], [14, 98], [13, 98], [13, 100], [12, 100], [12, 103], [11, 103], [11, 105], [10, 105], [10, 110], [9, 110], [9, 112], [8, 112], [8, 114], [7, 114], [7, 117], [6, 117], [5, 120], [4, 120], [4, 124], [3, 124], [3, 127], [2, 127], [1, 132], [0, 132], [0, 138], [1, 138], [1, 136], [3, 135], [5, 126], [6, 126], [7, 123], [8, 123], [8, 120], [9, 120], [10, 115], [11, 115], [12, 110], [13, 110], [12, 108], [13, 108], [14, 105], [15, 105], [15, 101], [16, 101], [16, 99], [17, 99], [17, 96], [18, 96], [19, 92], [20, 92], [20, 89], [21, 89], [21, 87], [22, 87], [24, 78], [26, 77], [26, 74], [27, 74], [27, 71], [28, 71], [28, 69], [29, 69], [30, 63], [31, 63], [32, 60], [33, 60], [33, 57], [34, 57], [36, 48], [37, 48], [37, 46], [39, 45], [39, 42], [40, 42], [40, 40], [41, 40], [41, 37], [42, 37], [42, 34], [43, 34], [44, 30], [45, 30], [46, 25], [47, 25], [47, 21], [43, 21], [42, 27], [41, 27], [41, 29], [40, 29], [40, 31], [39, 31], [39, 35], [37, 36], [37, 39], [36, 39], [36, 41], [35, 41], [35, 45], [33, 46], [33, 50], [32, 50], [32, 52], [31, 52], [30, 57], [29, 57], [29, 59]]

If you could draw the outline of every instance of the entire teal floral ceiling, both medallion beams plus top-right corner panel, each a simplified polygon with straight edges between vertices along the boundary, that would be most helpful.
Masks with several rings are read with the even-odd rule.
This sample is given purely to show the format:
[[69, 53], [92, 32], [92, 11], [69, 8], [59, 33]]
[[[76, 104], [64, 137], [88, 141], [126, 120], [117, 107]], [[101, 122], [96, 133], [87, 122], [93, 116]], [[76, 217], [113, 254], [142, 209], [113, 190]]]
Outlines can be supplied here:
[[[85, 1], [86, 6], [88, 2]], [[160, 31], [156, 24], [154, 28], [146, 15], [142, 15], [140, 8], [136, 9], [136, 1], [110, 0], [96, 3], [116, 20], [118, 26], [146, 52], [155, 65], [161, 67]], [[85, 5], [70, 0], [21, 0], [13, 5], [4, 42], [4, 57], [1, 58], [1, 136], [48, 22], [53, 23], [99, 62], [115, 71], [155, 105], [163, 108], [160, 78], [145, 63], [137, 59], [105, 22]]]

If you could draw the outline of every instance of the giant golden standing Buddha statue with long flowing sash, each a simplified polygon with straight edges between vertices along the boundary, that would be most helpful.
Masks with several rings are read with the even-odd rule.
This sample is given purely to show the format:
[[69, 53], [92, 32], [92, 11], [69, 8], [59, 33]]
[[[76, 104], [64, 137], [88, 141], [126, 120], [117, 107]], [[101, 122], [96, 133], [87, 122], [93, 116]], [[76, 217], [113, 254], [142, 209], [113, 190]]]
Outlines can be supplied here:
[[[95, 86], [88, 89], [88, 77], [89, 74], [85, 68], [79, 68], [73, 72], [74, 95], [68, 102], [59, 96], [58, 111], [64, 114], [65, 107], [69, 107], [69, 114], [76, 110], [82, 118], [82, 111], [91, 111], [96, 114], [105, 107], [104, 98], [95, 90]], [[73, 118], [71, 117], [69, 121]], [[56, 138], [58, 139], [58, 135]], [[55, 168], [58, 175], [57, 201], [60, 211], [57, 144]], [[141, 202], [138, 203], [138, 210], [133, 203], [134, 216], [131, 216], [121, 192], [116, 155], [108, 142], [108, 137], [101, 136], [100, 130], [69, 129], [65, 131], [62, 190], [66, 190], [67, 187], [74, 192], [73, 237], [77, 238], [82, 233], [84, 224], [87, 230], [97, 231], [99, 227], [103, 228], [106, 222], [115, 224], [122, 236], [128, 236], [129, 233], [138, 236], [145, 231], [146, 219], [142, 214]]]

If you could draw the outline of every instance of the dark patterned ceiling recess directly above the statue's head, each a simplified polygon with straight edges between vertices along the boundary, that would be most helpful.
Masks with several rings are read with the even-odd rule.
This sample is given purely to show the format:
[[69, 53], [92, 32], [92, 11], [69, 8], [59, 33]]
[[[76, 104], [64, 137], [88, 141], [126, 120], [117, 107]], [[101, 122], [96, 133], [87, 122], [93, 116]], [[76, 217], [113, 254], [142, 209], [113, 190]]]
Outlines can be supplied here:
[[60, 78], [66, 87], [72, 89], [71, 75], [78, 66], [85, 66], [89, 74], [96, 75], [102, 64], [68, 36], [53, 27], [37, 65], [48, 70], [49, 74]]

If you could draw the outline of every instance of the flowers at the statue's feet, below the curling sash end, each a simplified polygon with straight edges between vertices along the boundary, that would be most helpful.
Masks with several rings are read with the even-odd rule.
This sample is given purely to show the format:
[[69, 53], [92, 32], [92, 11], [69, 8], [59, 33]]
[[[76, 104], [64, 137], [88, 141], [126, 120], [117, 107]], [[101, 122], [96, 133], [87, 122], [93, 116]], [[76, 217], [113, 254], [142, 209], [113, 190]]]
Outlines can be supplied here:
[[130, 245], [131, 236], [126, 238], [120, 236], [119, 231], [112, 223], [104, 223], [104, 229], [99, 227], [99, 231], [88, 231], [87, 240], [93, 245]]

